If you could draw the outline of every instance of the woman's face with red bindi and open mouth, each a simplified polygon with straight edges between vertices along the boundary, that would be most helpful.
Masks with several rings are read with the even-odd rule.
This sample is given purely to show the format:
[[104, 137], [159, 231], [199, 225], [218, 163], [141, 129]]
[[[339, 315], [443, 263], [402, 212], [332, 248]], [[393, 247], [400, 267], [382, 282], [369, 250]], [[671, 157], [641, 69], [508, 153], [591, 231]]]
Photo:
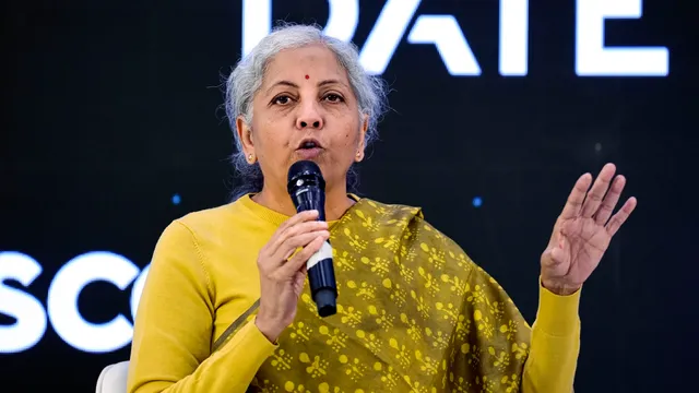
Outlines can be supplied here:
[[316, 162], [328, 188], [345, 184], [364, 157], [367, 122], [359, 117], [347, 72], [322, 45], [281, 51], [252, 102], [252, 124], [237, 119], [246, 157], [260, 162], [265, 184], [286, 189], [297, 160]]

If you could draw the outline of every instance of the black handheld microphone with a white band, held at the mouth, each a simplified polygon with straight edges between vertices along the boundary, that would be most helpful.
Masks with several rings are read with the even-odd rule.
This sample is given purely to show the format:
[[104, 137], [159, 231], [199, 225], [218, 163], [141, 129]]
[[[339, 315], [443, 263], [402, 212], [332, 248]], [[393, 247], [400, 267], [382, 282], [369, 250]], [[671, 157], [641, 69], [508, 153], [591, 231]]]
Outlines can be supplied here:
[[[296, 212], [308, 210], [319, 212], [318, 221], [325, 221], [325, 180], [318, 164], [311, 160], [294, 163], [288, 169], [286, 189], [294, 201]], [[332, 247], [330, 241], [307, 262], [310, 293], [320, 317], [333, 315], [337, 312], [337, 285], [332, 264]]]

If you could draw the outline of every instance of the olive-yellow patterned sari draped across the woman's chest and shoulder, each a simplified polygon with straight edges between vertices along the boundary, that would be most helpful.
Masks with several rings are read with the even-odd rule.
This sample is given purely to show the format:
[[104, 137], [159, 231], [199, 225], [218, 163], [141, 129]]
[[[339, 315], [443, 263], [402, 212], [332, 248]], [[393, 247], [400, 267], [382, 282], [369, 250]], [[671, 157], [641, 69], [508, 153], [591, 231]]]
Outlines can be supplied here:
[[520, 390], [530, 326], [419, 209], [359, 200], [331, 228], [330, 241], [337, 313], [320, 318], [307, 285], [295, 322], [249, 391]]

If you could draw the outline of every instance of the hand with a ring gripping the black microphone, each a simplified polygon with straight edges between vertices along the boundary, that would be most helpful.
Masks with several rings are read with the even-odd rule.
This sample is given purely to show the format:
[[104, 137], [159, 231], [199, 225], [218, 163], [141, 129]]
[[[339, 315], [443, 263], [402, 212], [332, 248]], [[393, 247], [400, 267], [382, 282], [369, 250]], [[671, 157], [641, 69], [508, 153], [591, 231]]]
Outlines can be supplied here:
[[[317, 218], [317, 211], [296, 214], [260, 250], [260, 309], [254, 323], [270, 342], [294, 322], [306, 281], [306, 262], [330, 237], [328, 223]], [[294, 254], [298, 248], [303, 249]]]

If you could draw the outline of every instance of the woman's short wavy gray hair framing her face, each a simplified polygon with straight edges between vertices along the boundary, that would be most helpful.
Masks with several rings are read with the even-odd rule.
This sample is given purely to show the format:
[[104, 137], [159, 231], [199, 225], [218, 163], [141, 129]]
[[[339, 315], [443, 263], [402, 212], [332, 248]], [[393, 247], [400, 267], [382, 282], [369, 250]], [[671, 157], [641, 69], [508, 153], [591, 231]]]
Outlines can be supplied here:
[[[357, 98], [359, 116], [366, 116], [368, 121], [365, 146], [377, 139], [377, 123], [387, 108], [387, 90], [380, 78], [369, 75], [364, 70], [359, 63], [357, 47], [352, 43], [324, 35], [317, 25], [280, 25], [238, 62], [226, 80], [225, 109], [236, 142], [232, 160], [242, 180], [242, 184], [233, 192], [234, 200], [248, 192], [261, 191], [263, 183], [260, 165], [258, 163], [250, 165], [246, 160], [242, 141], [236, 132], [236, 119], [241, 116], [248, 124], [252, 123], [252, 99], [262, 85], [266, 66], [274, 56], [284, 49], [301, 48], [313, 44], [322, 44], [330, 49], [347, 71], [350, 84]], [[357, 174], [353, 165], [347, 172], [348, 191], [354, 191], [356, 184]]]

